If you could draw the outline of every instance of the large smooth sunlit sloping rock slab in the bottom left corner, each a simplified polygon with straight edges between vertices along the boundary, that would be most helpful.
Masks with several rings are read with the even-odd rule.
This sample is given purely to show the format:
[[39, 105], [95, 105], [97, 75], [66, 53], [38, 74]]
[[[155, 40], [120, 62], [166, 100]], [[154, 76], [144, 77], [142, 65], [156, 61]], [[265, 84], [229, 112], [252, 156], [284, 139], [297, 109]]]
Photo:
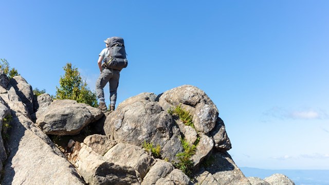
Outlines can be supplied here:
[[[23, 82], [25, 80], [22, 80]], [[14, 86], [1, 94], [0, 107], [12, 115], [6, 151], [9, 154], [1, 184], [83, 184], [75, 168], [40, 128], [29, 118], [29, 110]]]

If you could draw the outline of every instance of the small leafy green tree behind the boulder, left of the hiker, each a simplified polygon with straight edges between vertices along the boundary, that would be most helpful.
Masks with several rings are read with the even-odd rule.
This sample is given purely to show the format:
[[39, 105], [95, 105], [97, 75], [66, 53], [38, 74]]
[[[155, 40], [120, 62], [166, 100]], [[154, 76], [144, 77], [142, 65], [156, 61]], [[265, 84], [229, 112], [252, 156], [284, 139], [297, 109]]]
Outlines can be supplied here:
[[60, 78], [60, 87], [56, 87], [56, 99], [76, 100], [78, 103], [86, 103], [97, 107], [96, 93], [89, 90], [87, 83], [80, 76], [78, 68], [67, 63], [63, 67], [65, 74]]

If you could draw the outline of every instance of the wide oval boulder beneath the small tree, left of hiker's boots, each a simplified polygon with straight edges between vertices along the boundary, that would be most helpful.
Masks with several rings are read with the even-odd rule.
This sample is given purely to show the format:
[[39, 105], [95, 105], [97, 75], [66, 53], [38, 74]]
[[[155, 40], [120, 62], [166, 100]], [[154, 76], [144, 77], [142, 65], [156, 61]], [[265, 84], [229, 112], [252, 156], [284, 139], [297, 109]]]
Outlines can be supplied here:
[[83, 127], [99, 120], [101, 110], [75, 100], [56, 100], [50, 105], [39, 108], [36, 125], [44, 133], [52, 135], [77, 135]]

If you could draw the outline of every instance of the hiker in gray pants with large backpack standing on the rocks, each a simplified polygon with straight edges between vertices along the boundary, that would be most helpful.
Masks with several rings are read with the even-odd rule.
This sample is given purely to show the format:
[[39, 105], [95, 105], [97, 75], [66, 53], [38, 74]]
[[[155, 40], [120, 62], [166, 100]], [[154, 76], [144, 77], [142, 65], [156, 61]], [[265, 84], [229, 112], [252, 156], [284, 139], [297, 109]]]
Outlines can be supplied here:
[[[109, 82], [109, 99], [111, 100], [110, 112], [115, 110], [117, 100], [117, 89], [120, 79], [120, 71], [128, 64], [126, 60], [124, 42], [122, 38], [112, 37], [105, 41], [106, 48], [99, 53], [98, 67], [100, 76], [96, 81], [96, 94], [99, 99], [100, 110], [106, 111], [104, 98], [104, 86]], [[102, 61], [104, 63], [102, 64]]]

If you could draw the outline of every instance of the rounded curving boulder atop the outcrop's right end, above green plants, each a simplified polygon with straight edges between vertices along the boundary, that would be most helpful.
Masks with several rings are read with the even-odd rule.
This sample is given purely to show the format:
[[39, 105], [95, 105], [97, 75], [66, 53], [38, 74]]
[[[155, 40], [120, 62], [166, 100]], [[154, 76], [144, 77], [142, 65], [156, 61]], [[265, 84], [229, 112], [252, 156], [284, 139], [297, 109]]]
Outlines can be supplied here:
[[195, 86], [182, 85], [173, 88], [160, 95], [157, 100], [165, 110], [178, 105], [188, 110], [198, 132], [207, 134], [215, 127], [218, 109], [206, 93]]

